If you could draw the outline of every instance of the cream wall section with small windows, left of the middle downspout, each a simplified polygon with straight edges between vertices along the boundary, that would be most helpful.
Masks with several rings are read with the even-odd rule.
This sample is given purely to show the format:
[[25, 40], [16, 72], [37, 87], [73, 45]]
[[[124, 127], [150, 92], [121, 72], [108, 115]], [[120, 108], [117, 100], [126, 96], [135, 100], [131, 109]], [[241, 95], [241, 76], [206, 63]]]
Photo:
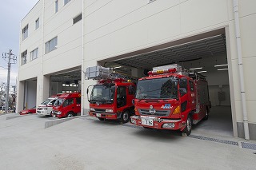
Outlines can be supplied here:
[[[22, 20], [20, 53], [27, 49], [38, 48], [38, 58], [19, 64], [18, 83], [37, 77], [36, 105], [50, 96], [50, 74], [82, 65], [82, 21], [73, 24], [73, 18], [82, 13], [82, 0], [58, 1], [55, 13], [54, 1], [40, 0]], [[35, 30], [35, 21], [39, 18], [39, 28]], [[22, 29], [29, 24], [28, 38], [22, 41]], [[58, 36], [57, 49], [45, 53], [45, 43]], [[32, 71], [33, 70], [33, 71]], [[22, 101], [22, 85], [18, 88], [18, 102]], [[54, 89], [55, 90], [55, 89]], [[56, 89], [56, 92], [60, 90]], [[62, 90], [61, 90], [62, 93]], [[18, 104], [21, 107], [22, 104]], [[34, 104], [33, 104], [34, 105]]]

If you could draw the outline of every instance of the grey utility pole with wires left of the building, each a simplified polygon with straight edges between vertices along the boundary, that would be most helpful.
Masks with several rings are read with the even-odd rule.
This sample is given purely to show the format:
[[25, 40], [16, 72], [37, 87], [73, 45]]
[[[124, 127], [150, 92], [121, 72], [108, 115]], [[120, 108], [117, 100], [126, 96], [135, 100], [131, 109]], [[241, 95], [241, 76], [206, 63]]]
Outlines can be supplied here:
[[11, 53], [11, 51], [12, 49], [9, 50], [9, 53], [2, 53], [2, 58], [5, 61], [8, 61], [8, 75], [7, 75], [7, 85], [6, 85], [6, 113], [8, 113], [8, 109], [9, 109], [10, 65], [16, 64], [17, 62], [17, 57], [13, 53]]

